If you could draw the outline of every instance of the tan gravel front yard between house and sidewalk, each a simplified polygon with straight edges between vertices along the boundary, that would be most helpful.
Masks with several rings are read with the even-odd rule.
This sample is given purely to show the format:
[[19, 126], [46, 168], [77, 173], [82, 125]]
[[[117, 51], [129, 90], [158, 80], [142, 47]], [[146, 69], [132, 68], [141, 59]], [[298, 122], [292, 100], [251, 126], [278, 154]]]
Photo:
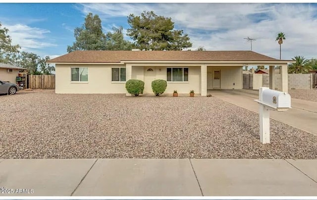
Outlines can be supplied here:
[[0, 158], [317, 159], [317, 136], [216, 97], [0, 96]]

